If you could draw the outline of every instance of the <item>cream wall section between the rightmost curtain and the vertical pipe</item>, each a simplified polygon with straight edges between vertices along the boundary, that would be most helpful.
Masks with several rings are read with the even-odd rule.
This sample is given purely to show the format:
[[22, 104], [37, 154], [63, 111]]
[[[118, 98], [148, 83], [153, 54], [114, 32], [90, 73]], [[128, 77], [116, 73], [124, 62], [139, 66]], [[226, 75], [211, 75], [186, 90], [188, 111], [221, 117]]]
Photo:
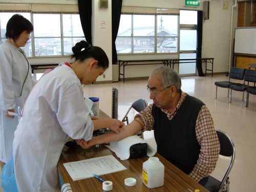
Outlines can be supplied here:
[[223, 1], [210, 1], [209, 20], [203, 22], [202, 56], [214, 57], [214, 72], [229, 71], [230, 19], [229, 9], [222, 9]]

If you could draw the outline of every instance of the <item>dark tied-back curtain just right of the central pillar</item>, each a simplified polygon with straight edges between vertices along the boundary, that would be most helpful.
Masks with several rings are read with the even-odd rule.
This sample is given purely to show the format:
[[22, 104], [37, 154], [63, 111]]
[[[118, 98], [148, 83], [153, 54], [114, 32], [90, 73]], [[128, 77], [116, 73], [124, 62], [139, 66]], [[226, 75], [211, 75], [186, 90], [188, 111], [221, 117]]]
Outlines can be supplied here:
[[112, 63], [117, 62], [116, 37], [118, 33], [122, 0], [112, 0]]

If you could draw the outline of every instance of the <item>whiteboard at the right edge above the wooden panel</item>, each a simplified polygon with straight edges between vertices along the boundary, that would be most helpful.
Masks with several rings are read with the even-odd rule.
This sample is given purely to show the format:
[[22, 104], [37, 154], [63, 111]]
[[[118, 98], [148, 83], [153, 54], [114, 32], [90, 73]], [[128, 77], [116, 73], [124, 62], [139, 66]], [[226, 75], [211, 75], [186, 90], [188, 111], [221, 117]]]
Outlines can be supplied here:
[[235, 29], [234, 53], [256, 55], [256, 27]]

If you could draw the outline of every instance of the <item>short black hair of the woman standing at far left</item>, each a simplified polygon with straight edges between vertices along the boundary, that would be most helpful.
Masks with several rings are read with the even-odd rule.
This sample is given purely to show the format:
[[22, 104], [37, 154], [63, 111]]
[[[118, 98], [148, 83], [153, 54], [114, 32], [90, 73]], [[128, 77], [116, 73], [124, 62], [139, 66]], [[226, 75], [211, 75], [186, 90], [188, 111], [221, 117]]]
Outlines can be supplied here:
[[33, 25], [28, 19], [20, 14], [15, 14], [7, 22], [5, 36], [15, 41], [23, 31], [31, 33], [33, 30]]

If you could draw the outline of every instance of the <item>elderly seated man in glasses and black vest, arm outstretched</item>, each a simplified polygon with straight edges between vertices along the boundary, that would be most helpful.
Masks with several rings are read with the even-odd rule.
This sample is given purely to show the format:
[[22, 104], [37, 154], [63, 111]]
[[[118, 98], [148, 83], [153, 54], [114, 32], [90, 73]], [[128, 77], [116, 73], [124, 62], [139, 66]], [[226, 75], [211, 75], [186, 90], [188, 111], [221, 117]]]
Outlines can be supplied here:
[[157, 152], [204, 186], [220, 151], [209, 110], [201, 100], [181, 91], [179, 75], [166, 66], [152, 71], [147, 89], [153, 104], [136, 115], [120, 133], [109, 132], [77, 143], [89, 148], [154, 130]]

